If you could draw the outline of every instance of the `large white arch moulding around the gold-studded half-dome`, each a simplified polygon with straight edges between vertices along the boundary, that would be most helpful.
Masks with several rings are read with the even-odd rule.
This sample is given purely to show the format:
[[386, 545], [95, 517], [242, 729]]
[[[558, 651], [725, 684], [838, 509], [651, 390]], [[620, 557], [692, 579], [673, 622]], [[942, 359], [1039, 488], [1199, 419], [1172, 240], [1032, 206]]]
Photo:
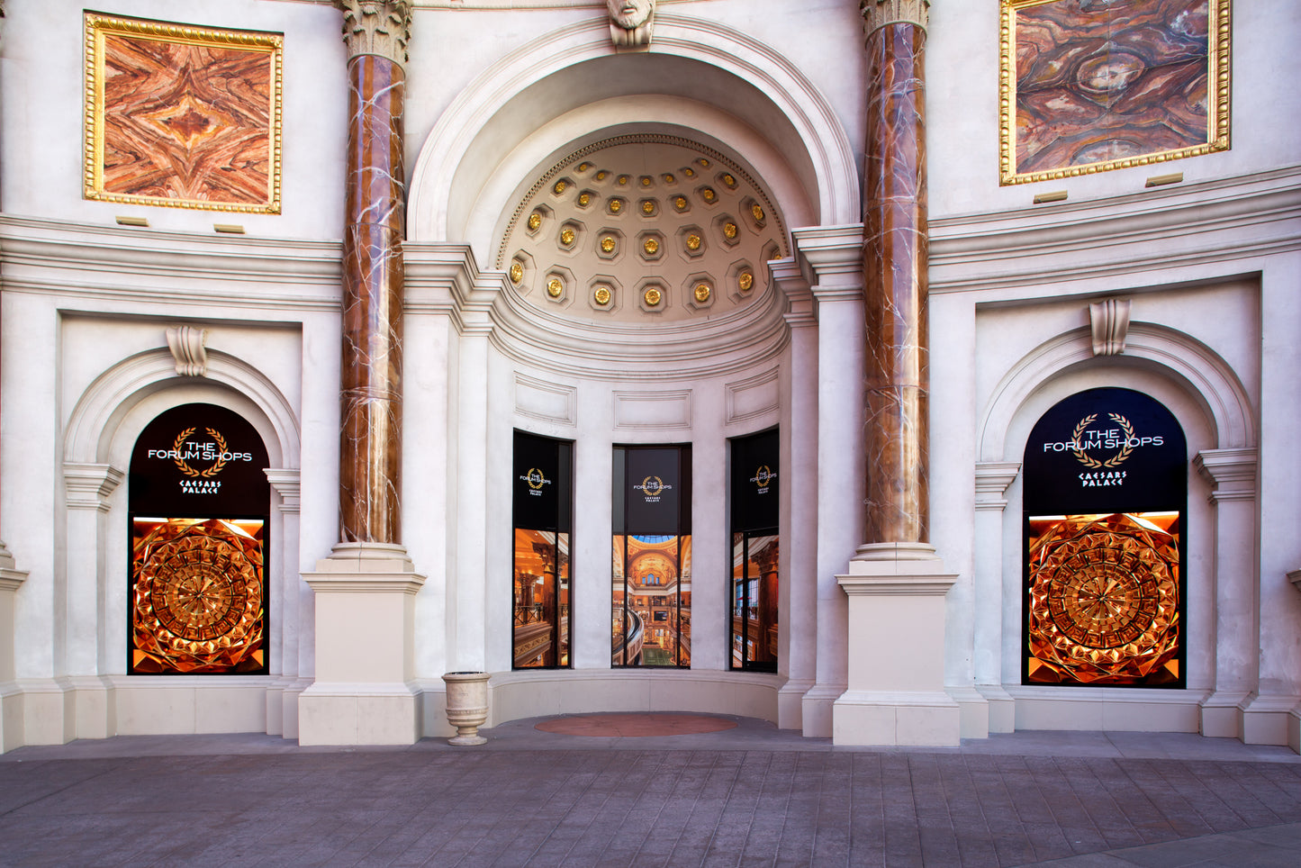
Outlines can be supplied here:
[[[822, 225], [860, 219], [848, 138], [826, 99], [779, 53], [730, 27], [682, 16], [657, 17], [649, 52], [611, 51], [604, 18], [580, 21], [523, 46], [466, 87], [420, 150], [409, 238], [470, 242], [488, 256], [496, 219], [519, 180], [566, 143], [609, 134], [609, 117], [583, 107], [635, 98], [654, 109], [656, 96], [691, 100], [695, 108], [683, 108], [709, 128], [703, 130], [709, 138], [744, 128], [753, 144], [735, 151], [771, 185], [790, 225], [804, 213]], [[680, 113], [674, 118], [682, 124]], [[582, 129], [597, 122], [606, 131]], [[537, 130], [545, 137], [532, 141]], [[786, 155], [786, 168], [774, 164], [774, 154]], [[783, 176], [794, 181], [778, 181]], [[808, 206], [792, 199], [796, 190]], [[492, 213], [488, 225], [484, 210]]]

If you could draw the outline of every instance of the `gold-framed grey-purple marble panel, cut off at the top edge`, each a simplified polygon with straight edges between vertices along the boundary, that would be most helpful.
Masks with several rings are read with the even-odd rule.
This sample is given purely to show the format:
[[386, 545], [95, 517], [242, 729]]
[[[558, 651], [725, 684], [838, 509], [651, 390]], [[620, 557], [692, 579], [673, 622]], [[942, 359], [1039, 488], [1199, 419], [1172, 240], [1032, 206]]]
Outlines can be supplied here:
[[1228, 150], [1229, 0], [1002, 1], [1002, 183]]

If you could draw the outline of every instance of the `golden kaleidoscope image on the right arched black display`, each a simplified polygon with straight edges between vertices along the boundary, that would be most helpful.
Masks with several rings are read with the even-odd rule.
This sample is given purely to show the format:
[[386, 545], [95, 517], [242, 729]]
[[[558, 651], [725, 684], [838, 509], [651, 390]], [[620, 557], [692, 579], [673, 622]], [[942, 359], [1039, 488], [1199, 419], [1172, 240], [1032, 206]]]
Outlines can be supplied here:
[[1176, 683], [1179, 606], [1179, 513], [1030, 518], [1029, 683]]

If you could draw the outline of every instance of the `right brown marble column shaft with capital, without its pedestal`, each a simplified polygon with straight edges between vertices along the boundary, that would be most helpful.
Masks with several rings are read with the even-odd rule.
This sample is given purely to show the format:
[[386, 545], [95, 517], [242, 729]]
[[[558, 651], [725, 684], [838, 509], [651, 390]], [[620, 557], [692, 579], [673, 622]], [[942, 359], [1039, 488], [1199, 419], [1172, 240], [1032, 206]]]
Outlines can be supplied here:
[[863, 0], [866, 543], [928, 543], [925, 74], [929, 0]]

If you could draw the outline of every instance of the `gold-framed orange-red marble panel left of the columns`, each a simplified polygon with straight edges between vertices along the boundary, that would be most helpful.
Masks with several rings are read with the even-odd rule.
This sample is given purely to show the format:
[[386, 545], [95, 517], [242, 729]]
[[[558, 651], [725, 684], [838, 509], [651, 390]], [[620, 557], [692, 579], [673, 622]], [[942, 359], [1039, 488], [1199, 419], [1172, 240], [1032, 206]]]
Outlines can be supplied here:
[[86, 13], [85, 198], [280, 213], [284, 36]]

